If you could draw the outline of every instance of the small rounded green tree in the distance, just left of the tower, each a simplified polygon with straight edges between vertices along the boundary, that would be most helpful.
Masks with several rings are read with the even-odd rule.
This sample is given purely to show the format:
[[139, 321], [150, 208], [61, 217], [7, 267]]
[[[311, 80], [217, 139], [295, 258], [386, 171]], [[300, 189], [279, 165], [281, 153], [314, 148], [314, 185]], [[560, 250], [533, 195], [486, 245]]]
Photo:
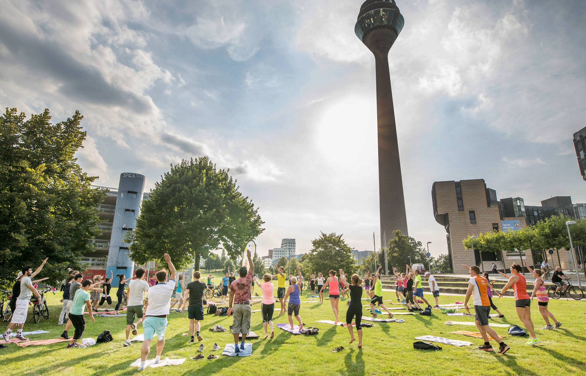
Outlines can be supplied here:
[[338, 269], [343, 269], [347, 275], [351, 275], [358, 270], [356, 260], [352, 257], [352, 248], [346, 244], [342, 234], [322, 232], [311, 244], [307, 260], [314, 272], [328, 275], [329, 270], [338, 272]]

